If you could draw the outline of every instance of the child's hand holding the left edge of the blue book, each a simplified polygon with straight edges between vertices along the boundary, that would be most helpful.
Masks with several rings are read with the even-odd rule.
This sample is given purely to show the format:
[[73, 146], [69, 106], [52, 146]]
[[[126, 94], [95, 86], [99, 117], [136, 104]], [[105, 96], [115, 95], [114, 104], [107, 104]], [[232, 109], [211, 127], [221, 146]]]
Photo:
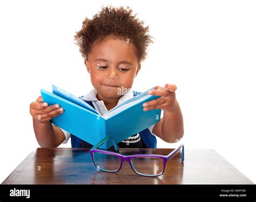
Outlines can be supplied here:
[[44, 102], [42, 96], [39, 96], [35, 102], [30, 104], [30, 114], [33, 116], [33, 119], [40, 123], [48, 123], [55, 116], [58, 116], [64, 112], [63, 108], [57, 105], [50, 105]]

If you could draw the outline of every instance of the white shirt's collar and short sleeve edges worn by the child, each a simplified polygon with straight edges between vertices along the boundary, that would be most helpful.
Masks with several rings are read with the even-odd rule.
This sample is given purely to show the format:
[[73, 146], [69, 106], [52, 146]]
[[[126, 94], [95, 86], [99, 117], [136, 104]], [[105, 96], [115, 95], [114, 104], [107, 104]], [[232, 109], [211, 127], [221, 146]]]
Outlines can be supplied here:
[[[108, 112], [108, 110], [107, 110], [107, 108], [106, 108], [106, 106], [104, 104], [104, 101], [103, 100], [98, 100], [96, 95], [97, 95], [97, 90], [95, 88], [92, 88], [88, 94], [80, 97], [80, 99], [82, 99], [84, 101], [91, 101], [92, 105], [95, 107], [95, 110], [99, 114], [104, 115], [105, 113]], [[133, 97], [133, 91], [132, 91], [132, 89], [130, 89], [126, 94], [124, 94], [122, 97], [119, 98], [117, 106], [120, 105], [121, 103], [125, 102], [126, 100], [131, 99], [132, 97]], [[150, 126], [148, 129], [150, 130], [150, 133], [152, 135], [156, 136], [152, 132], [152, 130], [154, 128], [154, 125], [155, 124]], [[66, 131], [66, 130], [64, 130], [62, 128], [60, 128], [60, 129], [63, 131], [63, 133], [65, 135], [65, 140], [62, 143], [62, 144], [65, 144], [65, 143], [68, 142], [69, 138], [71, 137], [71, 134], [68, 131]]]

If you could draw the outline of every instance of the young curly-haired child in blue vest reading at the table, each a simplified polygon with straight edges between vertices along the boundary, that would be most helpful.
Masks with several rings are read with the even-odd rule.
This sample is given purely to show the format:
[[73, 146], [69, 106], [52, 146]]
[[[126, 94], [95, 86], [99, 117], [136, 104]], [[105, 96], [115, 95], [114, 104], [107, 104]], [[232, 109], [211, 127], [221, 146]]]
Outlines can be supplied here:
[[[94, 87], [80, 99], [102, 115], [136, 94], [131, 87], [141, 68], [140, 63], [146, 57], [146, 48], [152, 43], [152, 37], [148, 33], [149, 27], [144, 27], [144, 23], [135, 16], [128, 7], [106, 6], [92, 19], [85, 18], [82, 29], [75, 35]], [[143, 110], [161, 109], [164, 111], [163, 119], [118, 143], [119, 147], [154, 148], [154, 135], [169, 143], [183, 137], [183, 116], [176, 100], [176, 89], [176, 85], [166, 84], [148, 92], [160, 97], [144, 103]], [[58, 147], [71, 137], [72, 147], [91, 148], [91, 144], [51, 123], [53, 117], [63, 112], [64, 109], [59, 105], [48, 106], [42, 96], [30, 104], [33, 129], [39, 145]]]

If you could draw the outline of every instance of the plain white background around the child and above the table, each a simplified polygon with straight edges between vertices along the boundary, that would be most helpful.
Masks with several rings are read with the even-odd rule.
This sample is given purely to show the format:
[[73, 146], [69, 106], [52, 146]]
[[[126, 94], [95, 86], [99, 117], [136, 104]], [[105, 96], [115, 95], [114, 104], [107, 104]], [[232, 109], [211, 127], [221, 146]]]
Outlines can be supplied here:
[[130, 5], [155, 38], [133, 89], [175, 83], [185, 149], [214, 149], [256, 183], [256, 2], [119, 2], [0, 2], [0, 182], [39, 147], [29, 105], [40, 89], [53, 83], [81, 96], [92, 88], [73, 36], [112, 4]]

